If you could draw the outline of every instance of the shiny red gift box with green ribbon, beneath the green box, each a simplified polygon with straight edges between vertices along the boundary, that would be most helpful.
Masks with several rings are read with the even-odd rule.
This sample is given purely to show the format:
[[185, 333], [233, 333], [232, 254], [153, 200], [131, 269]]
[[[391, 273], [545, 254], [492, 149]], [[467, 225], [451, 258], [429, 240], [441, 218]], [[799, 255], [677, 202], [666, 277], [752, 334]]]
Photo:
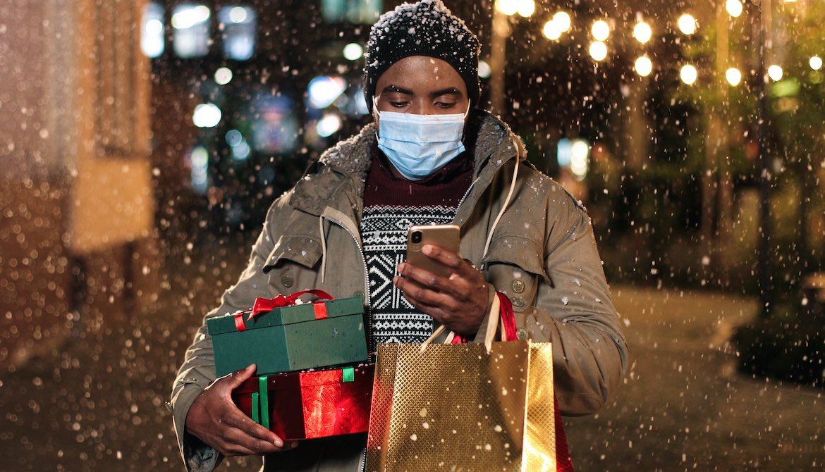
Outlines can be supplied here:
[[252, 377], [232, 392], [238, 408], [285, 441], [366, 432], [375, 364]]

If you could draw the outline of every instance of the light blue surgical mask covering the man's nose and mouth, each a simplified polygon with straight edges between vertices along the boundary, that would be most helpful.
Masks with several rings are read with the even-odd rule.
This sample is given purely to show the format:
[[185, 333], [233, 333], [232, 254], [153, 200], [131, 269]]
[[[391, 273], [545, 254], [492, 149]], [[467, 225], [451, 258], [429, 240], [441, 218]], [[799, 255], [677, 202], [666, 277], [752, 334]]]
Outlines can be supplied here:
[[464, 152], [464, 119], [458, 114], [409, 114], [379, 111], [378, 147], [408, 180], [422, 180]]

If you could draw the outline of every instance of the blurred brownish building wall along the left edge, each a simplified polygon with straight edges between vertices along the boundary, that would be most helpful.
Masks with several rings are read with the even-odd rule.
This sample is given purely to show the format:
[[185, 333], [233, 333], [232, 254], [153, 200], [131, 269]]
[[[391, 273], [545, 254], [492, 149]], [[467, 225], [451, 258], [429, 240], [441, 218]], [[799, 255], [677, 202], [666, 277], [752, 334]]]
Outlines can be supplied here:
[[86, 297], [136, 289], [153, 234], [139, 0], [0, 7], [0, 372], [59, 348]]

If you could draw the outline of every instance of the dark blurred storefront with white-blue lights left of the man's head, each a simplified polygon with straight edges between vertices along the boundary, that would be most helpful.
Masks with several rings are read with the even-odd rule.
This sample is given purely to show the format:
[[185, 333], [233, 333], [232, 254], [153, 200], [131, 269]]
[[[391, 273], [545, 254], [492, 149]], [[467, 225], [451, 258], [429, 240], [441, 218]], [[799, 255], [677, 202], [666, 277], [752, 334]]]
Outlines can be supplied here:
[[369, 117], [363, 46], [386, 2], [150, 2], [159, 227], [257, 227], [319, 152]]

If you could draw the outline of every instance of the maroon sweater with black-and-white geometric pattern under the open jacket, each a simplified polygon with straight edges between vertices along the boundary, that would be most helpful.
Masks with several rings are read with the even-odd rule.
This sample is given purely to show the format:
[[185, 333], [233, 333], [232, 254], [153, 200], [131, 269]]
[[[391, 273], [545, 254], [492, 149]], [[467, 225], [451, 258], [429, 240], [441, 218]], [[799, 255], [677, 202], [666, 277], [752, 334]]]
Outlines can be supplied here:
[[472, 179], [469, 152], [427, 179], [411, 182], [392, 175], [386, 157], [375, 149], [361, 217], [370, 284], [370, 352], [380, 343], [421, 343], [432, 334], [432, 318], [404, 298], [393, 277], [406, 259], [407, 228], [452, 222]]

